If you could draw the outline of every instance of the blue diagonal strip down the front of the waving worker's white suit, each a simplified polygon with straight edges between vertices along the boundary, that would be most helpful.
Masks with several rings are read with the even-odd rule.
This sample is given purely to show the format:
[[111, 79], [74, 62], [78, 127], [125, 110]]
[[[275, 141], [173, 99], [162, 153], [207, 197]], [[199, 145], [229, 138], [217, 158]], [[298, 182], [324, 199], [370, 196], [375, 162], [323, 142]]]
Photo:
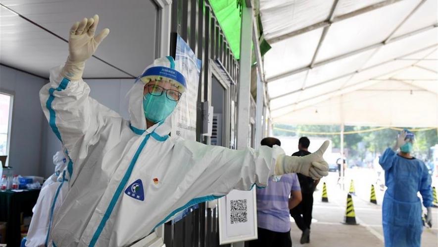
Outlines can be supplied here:
[[131, 173], [134, 170], [134, 165], [137, 162], [137, 159], [140, 156], [140, 153], [142, 152], [143, 148], [146, 145], [147, 140], [149, 139], [150, 135], [146, 135], [145, 139], [143, 139], [142, 143], [140, 143], [139, 148], [137, 149], [136, 153], [134, 154], [133, 159], [131, 160], [131, 164], [129, 164], [128, 169], [126, 170], [125, 175], [123, 176], [122, 180], [120, 181], [119, 186], [117, 187], [114, 195], [111, 198], [111, 201], [109, 202], [108, 207], [106, 208], [105, 214], [103, 215], [102, 220], [100, 221], [99, 226], [96, 229], [95, 234], [93, 235], [93, 238], [90, 241], [90, 247], [94, 247], [97, 243], [97, 239], [99, 238], [100, 234], [103, 231], [103, 228], [105, 227], [106, 221], [108, 221], [109, 217], [111, 216], [112, 210], [114, 209], [117, 200], [120, 197], [120, 194], [123, 192], [123, 189], [125, 188], [126, 184], [128, 183], [129, 178], [131, 177]]

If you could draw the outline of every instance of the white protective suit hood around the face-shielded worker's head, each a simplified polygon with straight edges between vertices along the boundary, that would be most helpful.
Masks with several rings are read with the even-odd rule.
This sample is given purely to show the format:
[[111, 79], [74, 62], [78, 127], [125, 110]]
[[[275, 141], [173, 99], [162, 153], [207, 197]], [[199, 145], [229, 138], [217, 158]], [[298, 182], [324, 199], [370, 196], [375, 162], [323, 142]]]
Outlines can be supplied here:
[[[155, 61], [147, 66], [146, 69], [154, 66], [173, 68], [175, 67], [175, 61], [172, 57], [155, 59]], [[129, 100], [129, 117], [131, 122], [131, 129], [137, 134], [142, 134], [145, 131], [152, 132], [152, 130], [154, 130], [159, 135], [167, 135], [172, 129], [173, 113], [169, 115], [166, 120], [151, 126], [150, 130], [146, 127], [146, 117], [143, 109], [143, 88], [145, 84], [146, 83], [144, 81], [137, 78], [131, 90], [127, 94]]]

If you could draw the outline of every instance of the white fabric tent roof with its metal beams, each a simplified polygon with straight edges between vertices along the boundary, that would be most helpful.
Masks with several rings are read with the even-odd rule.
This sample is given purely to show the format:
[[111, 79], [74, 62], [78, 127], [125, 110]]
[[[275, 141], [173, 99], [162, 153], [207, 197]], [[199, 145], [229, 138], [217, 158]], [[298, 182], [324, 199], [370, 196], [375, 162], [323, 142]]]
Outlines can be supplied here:
[[437, 127], [437, 2], [260, 0], [273, 122]]

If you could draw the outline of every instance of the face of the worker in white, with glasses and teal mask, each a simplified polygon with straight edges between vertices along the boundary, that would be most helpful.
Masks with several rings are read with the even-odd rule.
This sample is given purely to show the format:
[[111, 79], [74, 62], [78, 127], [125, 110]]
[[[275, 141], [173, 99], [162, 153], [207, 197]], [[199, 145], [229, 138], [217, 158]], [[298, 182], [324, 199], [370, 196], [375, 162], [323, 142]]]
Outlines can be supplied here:
[[153, 123], [161, 122], [175, 110], [181, 93], [158, 85], [146, 85], [146, 87], [148, 93], [143, 96], [145, 117]]

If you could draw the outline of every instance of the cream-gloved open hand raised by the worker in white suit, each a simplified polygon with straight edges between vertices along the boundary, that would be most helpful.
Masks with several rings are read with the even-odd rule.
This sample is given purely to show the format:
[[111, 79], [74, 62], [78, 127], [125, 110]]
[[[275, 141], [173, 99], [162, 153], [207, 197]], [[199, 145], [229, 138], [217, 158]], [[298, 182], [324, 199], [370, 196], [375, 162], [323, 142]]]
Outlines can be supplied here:
[[62, 76], [70, 80], [79, 80], [82, 77], [85, 61], [93, 56], [100, 42], [109, 34], [109, 29], [105, 28], [95, 36], [98, 23], [99, 16], [95, 15], [73, 24], [68, 39], [69, 54], [61, 71]]

